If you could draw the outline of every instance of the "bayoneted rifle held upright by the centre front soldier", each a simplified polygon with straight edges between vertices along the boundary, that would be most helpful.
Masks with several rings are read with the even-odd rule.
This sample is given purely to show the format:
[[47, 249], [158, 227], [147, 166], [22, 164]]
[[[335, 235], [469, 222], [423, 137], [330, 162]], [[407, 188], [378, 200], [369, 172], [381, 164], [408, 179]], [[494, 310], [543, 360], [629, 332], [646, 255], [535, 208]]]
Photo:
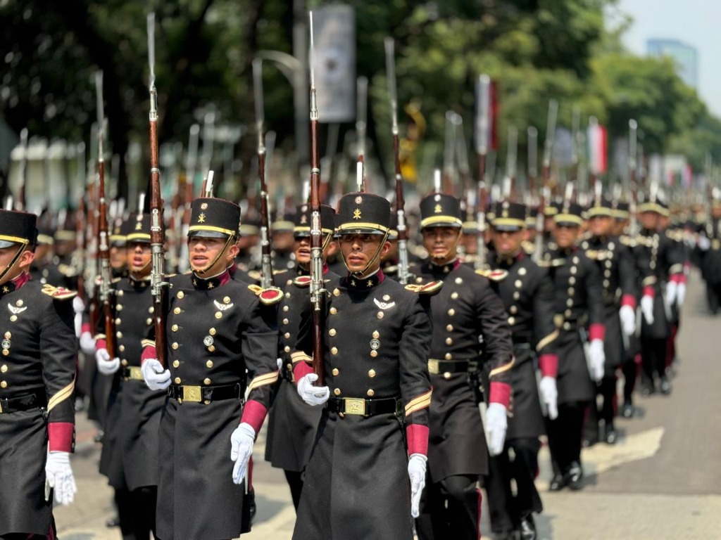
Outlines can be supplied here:
[[[311, 66], [311, 303], [313, 304], [313, 371], [317, 374], [316, 384], [323, 386], [323, 310], [324, 310], [324, 284], [323, 284], [323, 238], [320, 217], [320, 168], [318, 150], [318, 104], [316, 101], [315, 73], [314, 73], [314, 42], [313, 42], [313, 12], [310, 18], [310, 66]], [[362, 171], [362, 161], [361, 171]], [[362, 178], [362, 176], [361, 176]]]

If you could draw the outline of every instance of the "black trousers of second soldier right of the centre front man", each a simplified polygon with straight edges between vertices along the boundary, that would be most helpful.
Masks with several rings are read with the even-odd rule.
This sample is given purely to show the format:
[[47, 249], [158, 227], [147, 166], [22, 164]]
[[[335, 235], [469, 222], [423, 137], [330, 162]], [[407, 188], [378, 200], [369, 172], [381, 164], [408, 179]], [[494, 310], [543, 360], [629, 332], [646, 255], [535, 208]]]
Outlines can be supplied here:
[[[515, 438], [506, 441], [503, 452], [490, 459], [485, 488], [492, 531], [513, 531], [521, 518], [543, 511], [541, 495], [534, 483], [540, 449], [538, 438]], [[515, 493], [511, 489], [512, 481], [516, 482]]]

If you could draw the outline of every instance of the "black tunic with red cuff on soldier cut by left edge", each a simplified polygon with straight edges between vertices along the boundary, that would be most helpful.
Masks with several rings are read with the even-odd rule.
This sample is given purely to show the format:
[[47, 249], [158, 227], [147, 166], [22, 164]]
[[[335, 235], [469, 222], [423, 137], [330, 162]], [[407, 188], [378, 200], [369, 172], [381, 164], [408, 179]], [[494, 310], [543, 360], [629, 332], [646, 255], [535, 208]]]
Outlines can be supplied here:
[[48, 442], [74, 449], [75, 292], [28, 279], [0, 285], [0, 536], [50, 534]]

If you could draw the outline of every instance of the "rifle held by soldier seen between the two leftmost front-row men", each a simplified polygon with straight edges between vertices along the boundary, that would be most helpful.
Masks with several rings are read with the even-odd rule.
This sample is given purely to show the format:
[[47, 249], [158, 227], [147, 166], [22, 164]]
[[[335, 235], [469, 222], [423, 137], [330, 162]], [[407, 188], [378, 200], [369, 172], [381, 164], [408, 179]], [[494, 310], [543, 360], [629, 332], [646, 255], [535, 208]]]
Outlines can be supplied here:
[[103, 156], [103, 138], [105, 136], [105, 113], [102, 102], [102, 71], [95, 73], [97, 90], [97, 177], [98, 177], [98, 225], [97, 251], [100, 259], [99, 302], [102, 304], [105, 321], [105, 343], [107, 354], [115, 358], [115, 319], [112, 317], [110, 302], [110, 243], [107, 236], [107, 202], [105, 201], [105, 157]]

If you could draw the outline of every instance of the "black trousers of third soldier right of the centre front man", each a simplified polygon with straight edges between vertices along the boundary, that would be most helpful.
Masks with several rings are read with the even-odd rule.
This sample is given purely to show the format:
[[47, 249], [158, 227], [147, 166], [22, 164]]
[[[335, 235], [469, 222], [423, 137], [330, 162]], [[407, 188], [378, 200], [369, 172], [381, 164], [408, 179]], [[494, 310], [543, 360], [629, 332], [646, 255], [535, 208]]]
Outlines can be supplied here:
[[548, 446], [554, 472], [567, 472], [573, 462], [581, 462], [581, 433], [588, 402], [558, 405], [558, 418], [547, 420]]

